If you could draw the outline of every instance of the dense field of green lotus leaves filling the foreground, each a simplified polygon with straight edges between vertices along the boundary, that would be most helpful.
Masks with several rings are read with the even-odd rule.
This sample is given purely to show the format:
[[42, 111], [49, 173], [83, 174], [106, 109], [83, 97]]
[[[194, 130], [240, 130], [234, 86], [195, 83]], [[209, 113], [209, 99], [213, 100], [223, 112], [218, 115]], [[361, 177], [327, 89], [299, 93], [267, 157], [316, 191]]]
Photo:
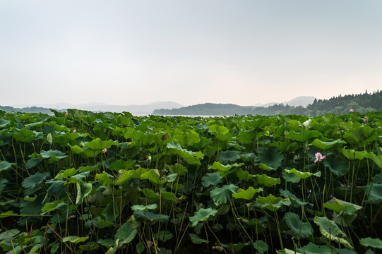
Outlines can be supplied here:
[[8, 253], [374, 253], [382, 115], [0, 111]]

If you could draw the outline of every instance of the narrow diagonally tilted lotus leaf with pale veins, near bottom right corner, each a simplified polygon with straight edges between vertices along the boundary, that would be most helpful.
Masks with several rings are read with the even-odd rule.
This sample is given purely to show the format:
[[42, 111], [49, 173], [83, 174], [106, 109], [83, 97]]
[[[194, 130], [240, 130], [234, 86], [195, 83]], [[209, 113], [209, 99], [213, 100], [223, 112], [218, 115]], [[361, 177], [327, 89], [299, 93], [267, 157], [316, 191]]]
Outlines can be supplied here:
[[326, 217], [314, 217], [314, 223], [320, 227], [320, 232], [330, 241], [336, 241], [343, 244], [346, 248], [353, 249], [352, 244], [347, 241], [347, 235], [335, 224]]

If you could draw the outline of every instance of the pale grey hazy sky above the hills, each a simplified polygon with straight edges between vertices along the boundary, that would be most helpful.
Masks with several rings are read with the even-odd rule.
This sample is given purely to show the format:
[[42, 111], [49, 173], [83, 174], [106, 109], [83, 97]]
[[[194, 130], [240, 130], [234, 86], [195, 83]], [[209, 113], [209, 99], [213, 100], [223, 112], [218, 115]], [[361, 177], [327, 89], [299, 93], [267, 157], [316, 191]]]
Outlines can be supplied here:
[[382, 90], [381, 0], [0, 0], [0, 105]]

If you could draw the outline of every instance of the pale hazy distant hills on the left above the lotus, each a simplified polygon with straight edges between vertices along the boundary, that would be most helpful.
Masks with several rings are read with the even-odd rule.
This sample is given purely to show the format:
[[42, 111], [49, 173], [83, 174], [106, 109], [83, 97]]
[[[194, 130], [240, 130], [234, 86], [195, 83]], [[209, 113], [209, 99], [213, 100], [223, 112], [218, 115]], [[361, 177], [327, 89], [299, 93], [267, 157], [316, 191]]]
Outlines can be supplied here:
[[122, 112], [128, 111], [131, 114], [151, 114], [155, 109], [177, 109], [182, 107], [177, 102], [153, 102], [143, 105], [108, 105], [102, 103], [88, 103], [88, 104], [68, 104], [68, 103], [56, 103], [56, 104], [42, 104], [39, 107], [29, 107], [28, 105], [18, 105], [18, 107], [0, 106], [0, 110], [11, 112], [25, 112], [25, 113], [44, 113], [52, 114], [49, 109], [66, 110], [66, 109], [81, 109], [86, 111], [109, 111], [109, 112]]

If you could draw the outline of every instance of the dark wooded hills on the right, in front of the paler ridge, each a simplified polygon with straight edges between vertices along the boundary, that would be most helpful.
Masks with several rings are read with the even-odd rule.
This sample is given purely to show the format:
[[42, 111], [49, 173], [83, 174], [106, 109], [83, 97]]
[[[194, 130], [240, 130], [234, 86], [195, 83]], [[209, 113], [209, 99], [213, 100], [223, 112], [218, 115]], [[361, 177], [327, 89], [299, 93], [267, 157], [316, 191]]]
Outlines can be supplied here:
[[347, 114], [350, 109], [361, 113], [382, 111], [382, 91], [376, 91], [372, 94], [366, 91], [364, 94], [359, 95], [340, 95], [330, 99], [314, 99], [314, 102], [306, 108], [302, 106], [294, 107], [289, 104], [274, 104], [269, 107], [244, 107], [235, 104], [205, 103], [179, 109], [155, 109], [153, 114], [201, 116], [304, 114], [316, 116], [322, 114]]

